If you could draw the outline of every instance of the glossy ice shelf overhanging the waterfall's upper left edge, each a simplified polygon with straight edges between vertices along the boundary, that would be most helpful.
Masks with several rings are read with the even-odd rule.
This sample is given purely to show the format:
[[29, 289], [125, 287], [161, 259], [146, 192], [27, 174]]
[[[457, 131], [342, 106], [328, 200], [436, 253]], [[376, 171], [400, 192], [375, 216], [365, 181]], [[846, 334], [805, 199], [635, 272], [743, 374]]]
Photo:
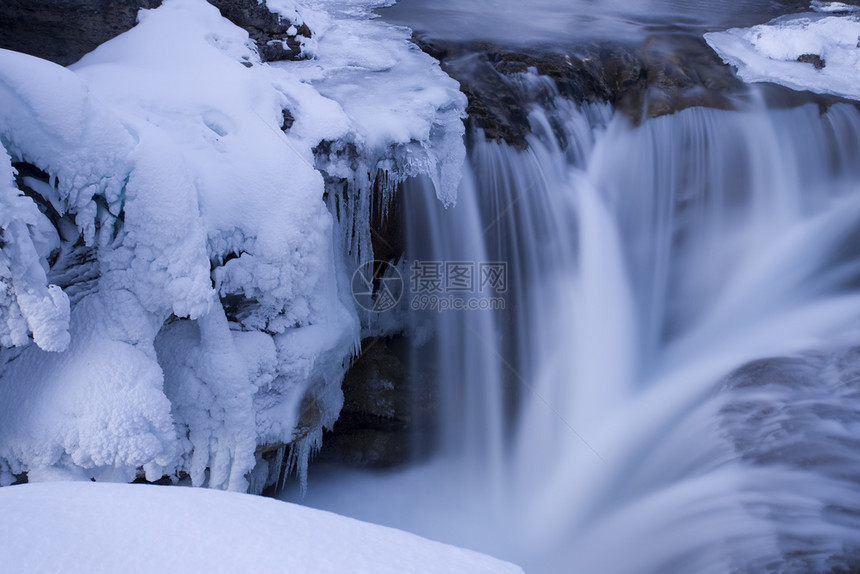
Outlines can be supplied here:
[[[410, 43], [410, 31], [371, 18], [385, 2], [314, 2], [332, 15], [314, 28], [315, 58], [297, 64], [302, 79], [337, 101], [350, 120], [350, 143], [373, 173], [404, 179], [429, 174], [439, 199], [456, 201], [465, 158], [466, 99], [437, 62]], [[349, 158], [324, 158], [335, 175], [352, 171]], [[338, 162], [340, 160], [340, 164]], [[362, 170], [356, 170], [359, 173]]]

